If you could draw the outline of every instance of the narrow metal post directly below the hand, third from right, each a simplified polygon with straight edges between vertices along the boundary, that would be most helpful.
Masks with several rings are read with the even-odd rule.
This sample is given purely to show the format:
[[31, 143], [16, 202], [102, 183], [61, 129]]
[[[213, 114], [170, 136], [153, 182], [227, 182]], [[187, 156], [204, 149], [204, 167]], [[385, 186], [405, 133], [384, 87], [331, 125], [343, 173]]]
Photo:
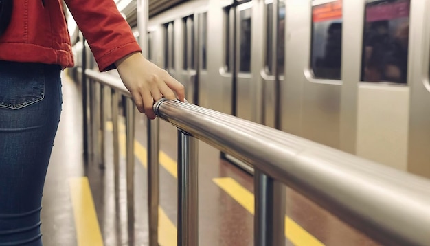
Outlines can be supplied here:
[[149, 245], [158, 245], [159, 118], [147, 120]]

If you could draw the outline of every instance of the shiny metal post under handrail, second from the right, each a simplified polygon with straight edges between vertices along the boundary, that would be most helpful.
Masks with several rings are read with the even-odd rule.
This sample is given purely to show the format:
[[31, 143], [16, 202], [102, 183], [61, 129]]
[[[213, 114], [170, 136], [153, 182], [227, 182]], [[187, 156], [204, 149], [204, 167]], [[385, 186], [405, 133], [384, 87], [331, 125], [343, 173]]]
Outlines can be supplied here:
[[178, 131], [178, 245], [199, 245], [197, 139]]

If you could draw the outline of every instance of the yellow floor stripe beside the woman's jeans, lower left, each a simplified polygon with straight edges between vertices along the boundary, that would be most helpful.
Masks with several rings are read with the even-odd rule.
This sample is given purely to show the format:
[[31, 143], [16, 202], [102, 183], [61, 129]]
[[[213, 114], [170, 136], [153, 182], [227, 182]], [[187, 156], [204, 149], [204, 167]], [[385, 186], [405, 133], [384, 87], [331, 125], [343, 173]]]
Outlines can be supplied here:
[[79, 246], [103, 246], [102, 233], [87, 177], [69, 179], [71, 203]]

